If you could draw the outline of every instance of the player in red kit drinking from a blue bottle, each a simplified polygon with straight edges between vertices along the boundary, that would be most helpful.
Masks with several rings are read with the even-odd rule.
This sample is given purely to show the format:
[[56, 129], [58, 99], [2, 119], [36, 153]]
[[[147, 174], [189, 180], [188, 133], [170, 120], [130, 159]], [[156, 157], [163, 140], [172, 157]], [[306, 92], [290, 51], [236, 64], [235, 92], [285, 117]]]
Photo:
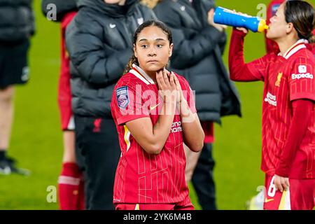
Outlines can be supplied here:
[[234, 29], [230, 77], [264, 82], [262, 164], [264, 209], [313, 209], [315, 199], [315, 59], [314, 8], [306, 1], [286, 1], [270, 19], [267, 38], [274, 52], [244, 63], [246, 29]]

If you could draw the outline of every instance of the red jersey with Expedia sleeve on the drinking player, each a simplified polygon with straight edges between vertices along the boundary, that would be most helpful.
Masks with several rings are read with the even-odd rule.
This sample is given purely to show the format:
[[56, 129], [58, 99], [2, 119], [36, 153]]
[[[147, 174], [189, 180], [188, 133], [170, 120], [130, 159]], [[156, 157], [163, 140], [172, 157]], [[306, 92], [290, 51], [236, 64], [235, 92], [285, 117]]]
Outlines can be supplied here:
[[[262, 165], [268, 175], [274, 175], [286, 142], [295, 99], [315, 101], [315, 59], [304, 40], [297, 41], [283, 56], [268, 54], [248, 63], [248, 79], [264, 80], [262, 104]], [[243, 77], [244, 78], [244, 77]], [[314, 104], [315, 105], [315, 104]], [[315, 178], [315, 108], [307, 132], [298, 148], [289, 177]]]

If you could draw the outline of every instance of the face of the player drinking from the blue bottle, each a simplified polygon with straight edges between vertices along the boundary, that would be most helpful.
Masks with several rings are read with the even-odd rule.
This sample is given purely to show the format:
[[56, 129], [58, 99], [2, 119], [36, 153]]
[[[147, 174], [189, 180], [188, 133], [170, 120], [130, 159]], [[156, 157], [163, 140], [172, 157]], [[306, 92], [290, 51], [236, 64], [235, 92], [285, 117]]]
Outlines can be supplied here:
[[267, 38], [277, 40], [286, 36], [288, 23], [284, 15], [285, 3], [282, 3], [276, 11], [276, 15], [270, 18], [269, 29], [267, 30]]

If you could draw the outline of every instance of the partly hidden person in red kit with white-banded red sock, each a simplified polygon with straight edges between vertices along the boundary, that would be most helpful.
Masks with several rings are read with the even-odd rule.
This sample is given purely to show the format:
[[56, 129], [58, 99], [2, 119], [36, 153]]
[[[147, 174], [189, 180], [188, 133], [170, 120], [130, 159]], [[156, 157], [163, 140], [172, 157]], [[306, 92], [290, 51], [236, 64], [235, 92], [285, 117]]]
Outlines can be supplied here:
[[58, 106], [63, 131], [64, 155], [62, 171], [58, 180], [58, 198], [59, 208], [62, 210], [84, 209], [83, 175], [76, 164], [75, 127], [71, 109], [70, 59], [65, 45], [66, 27], [73, 20], [78, 10], [76, 2], [76, 0], [43, 0], [41, 4], [45, 16], [50, 13], [49, 4], [55, 4], [57, 9], [56, 20], [52, 20], [52, 22], [59, 22], [61, 28]]

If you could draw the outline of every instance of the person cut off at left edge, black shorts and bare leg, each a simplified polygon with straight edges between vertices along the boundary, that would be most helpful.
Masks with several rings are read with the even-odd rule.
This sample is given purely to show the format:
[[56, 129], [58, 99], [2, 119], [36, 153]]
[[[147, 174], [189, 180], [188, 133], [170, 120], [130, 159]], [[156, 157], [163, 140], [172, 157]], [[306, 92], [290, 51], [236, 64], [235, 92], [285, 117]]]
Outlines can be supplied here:
[[14, 117], [14, 85], [29, 80], [27, 53], [35, 33], [32, 0], [0, 1], [0, 174], [24, 174], [7, 155]]

